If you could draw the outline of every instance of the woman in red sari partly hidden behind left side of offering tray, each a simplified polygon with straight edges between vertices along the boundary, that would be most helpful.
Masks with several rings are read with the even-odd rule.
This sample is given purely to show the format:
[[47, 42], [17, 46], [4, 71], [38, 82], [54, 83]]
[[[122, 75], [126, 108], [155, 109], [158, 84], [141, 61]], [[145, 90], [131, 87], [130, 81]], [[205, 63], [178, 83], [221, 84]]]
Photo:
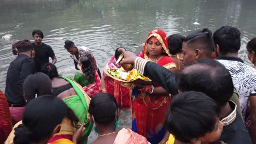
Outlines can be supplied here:
[[[121, 47], [115, 49], [115, 54], [112, 56], [104, 69], [107, 68], [121, 68], [121, 65], [117, 63], [118, 57], [122, 52], [118, 51]], [[101, 88], [103, 92], [107, 92], [111, 95], [114, 95], [115, 99], [118, 102], [118, 107], [120, 109], [130, 109], [131, 108], [131, 97], [130, 97], [130, 88], [121, 85], [120, 81], [113, 79], [108, 76], [104, 71], [101, 79]]]

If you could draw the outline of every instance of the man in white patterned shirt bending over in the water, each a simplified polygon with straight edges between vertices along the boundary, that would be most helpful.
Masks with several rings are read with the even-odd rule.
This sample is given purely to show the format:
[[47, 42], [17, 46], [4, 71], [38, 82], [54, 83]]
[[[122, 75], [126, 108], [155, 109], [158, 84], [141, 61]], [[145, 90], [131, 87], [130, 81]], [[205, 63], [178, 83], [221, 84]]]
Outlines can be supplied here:
[[98, 76], [100, 76], [101, 78], [101, 71], [98, 68], [95, 57], [94, 55], [92, 55], [91, 49], [89, 47], [85, 47], [85, 46], [77, 47], [75, 46], [73, 41], [70, 41], [70, 40], [65, 41], [64, 47], [70, 53], [70, 57], [74, 60], [75, 69], [79, 70], [79, 68], [77, 67], [79, 58], [81, 56], [87, 56], [92, 63], [92, 68], [94, 68], [94, 70], [98, 72]]

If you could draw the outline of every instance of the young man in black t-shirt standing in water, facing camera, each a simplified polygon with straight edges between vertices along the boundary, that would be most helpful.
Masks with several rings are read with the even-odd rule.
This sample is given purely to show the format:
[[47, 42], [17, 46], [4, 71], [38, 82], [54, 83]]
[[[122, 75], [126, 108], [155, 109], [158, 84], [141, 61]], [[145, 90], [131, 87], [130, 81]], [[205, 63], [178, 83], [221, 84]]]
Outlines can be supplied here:
[[36, 52], [36, 55], [34, 56], [34, 61], [36, 62], [36, 71], [41, 71], [42, 66], [45, 63], [49, 63], [49, 57], [53, 59], [51, 63], [55, 64], [57, 59], [53, 49], [51, 49], [49, 45], [42, 43], [44, 38], [43, 32], [38, 29], [34, 30], [32, 32], [32, 36], [34, 39], [34, 43], [32, 43], [32, 45], [34, 46], [34, 51]]

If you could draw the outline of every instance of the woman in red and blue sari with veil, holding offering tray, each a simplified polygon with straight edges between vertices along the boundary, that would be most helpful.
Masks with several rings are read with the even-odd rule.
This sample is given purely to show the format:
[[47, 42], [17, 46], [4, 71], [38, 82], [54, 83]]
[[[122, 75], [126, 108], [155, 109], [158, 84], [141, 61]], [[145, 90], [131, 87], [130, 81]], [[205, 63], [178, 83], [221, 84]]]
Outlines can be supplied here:
[[[157, 63], [176, 73], [176, 64], [170, 57], [167, 38], [161, 29], [152, 30], [146, 39], [140, 57]], [[138, 85], [133, 88], [132, 130], [146, 136], [150, 143], [159, 143], [166, 132], [164, 126], [169, 93], [153, 85]]]

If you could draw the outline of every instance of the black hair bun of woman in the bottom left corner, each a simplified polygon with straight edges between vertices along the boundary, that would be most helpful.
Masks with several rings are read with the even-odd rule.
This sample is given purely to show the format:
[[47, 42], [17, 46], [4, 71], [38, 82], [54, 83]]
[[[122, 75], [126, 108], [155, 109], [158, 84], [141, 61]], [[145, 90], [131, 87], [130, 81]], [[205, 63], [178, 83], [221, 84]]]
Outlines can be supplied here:
[[20, 124], [17, 128], [14, 129], [14, 139], [13, 142], [17, 144], [25, 144], [31, 142], [32, 131], [27, 128], [24, 124]]

